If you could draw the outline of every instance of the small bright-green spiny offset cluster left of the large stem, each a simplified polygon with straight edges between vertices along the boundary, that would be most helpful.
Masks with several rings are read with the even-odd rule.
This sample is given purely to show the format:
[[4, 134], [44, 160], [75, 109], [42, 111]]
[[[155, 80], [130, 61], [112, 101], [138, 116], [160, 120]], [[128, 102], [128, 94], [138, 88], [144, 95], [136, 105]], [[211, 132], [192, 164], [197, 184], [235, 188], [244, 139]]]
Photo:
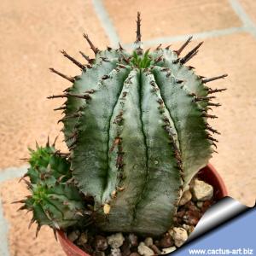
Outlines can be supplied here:
[[18, 202], [24, 203], [20, 209], [32, 212], [31, 224], [36, 222], [38, 230], [43, 225], [59, 230], [85, 224], [84, 196], [70, 182], [70, 163], [49, 143], [30, 152], [30, 167], [23, 179], [32, 195]]

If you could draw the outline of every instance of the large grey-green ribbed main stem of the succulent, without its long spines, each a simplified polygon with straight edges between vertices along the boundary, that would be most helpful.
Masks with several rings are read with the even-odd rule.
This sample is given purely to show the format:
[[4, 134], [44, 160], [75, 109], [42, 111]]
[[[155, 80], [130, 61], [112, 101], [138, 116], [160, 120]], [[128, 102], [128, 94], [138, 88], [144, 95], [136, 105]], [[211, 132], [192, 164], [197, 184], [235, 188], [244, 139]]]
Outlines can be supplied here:
[[103, 230], [165, 232], [183, 186], [212, 154], [203, 81], [170, 49], [147, 54], [97, 52], [68, 91], [73, 177], [96, 207], [109, 205]]

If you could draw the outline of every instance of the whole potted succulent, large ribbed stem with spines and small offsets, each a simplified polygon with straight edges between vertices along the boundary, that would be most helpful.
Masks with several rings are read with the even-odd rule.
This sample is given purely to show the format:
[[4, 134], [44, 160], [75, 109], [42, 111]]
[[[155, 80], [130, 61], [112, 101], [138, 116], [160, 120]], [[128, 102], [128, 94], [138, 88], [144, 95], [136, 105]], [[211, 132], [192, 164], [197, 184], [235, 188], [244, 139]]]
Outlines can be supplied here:
[[[62, 54], [82, 70], [62, 95], [68, 155], [46, 145], [32, 151], [26, 176], [32, 195], [22, 202], [32, 221], [54, 229], [94, 222], [99, 230], [160, 235], [172, 226], [178, 201], [192, 177], [206, 166], [217, 141], [208, 110], [218, 107], [206, 79], [186, 63], [202, 43], [181, 56], [158, 46], [144, 51], [141, 19], [130, 54], [97, 49], [88, 64]], [[212, 110], [212, 109], [211, 109]], [[86, 198], [93, 198], [88, 203]]]

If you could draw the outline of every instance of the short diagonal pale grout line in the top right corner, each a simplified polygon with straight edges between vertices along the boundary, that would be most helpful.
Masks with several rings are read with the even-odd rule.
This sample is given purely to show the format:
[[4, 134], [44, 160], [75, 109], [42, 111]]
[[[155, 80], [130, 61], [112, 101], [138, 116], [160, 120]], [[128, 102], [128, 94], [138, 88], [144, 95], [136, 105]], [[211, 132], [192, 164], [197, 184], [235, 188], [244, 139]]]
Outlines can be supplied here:
[[243, 23], [243, 26], [247, 32], [253, 34], [256, 37], [256, 26], [253, 21], [250, 19], [249, 15], [247, 15], [246, 11], [242, 8], [241, 3], [237, 0], [229, 0], [230, 6], [236, 12], [236, 15], [240, 18]]

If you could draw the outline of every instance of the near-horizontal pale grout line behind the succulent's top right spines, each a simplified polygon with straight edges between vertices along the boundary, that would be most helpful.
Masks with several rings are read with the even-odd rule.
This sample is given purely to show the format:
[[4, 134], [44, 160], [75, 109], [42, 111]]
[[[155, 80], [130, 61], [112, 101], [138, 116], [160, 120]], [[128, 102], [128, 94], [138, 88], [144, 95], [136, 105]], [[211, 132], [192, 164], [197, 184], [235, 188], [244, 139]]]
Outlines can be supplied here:
[[[194, 39], [204, 39], [204, 38], [216, 38], [219, 36], [230, 35], [236, 32], [244, 32], [246, 29], [244, 27], [230, 27], [220, 30], [212, 30], [207, 32], [198, 32], [191, 33]], [[174, 37], [164, 37], [164, 38], [154, 38], [148, 41], [143, 41], [144, 46], [152, 46], [155, 44], [164, 44], [164, 43], [175, 43], [187, 40], [191, 34], [174, 36]], [[133, 44], [124, 44], [125, 47], [131, 48]]]

